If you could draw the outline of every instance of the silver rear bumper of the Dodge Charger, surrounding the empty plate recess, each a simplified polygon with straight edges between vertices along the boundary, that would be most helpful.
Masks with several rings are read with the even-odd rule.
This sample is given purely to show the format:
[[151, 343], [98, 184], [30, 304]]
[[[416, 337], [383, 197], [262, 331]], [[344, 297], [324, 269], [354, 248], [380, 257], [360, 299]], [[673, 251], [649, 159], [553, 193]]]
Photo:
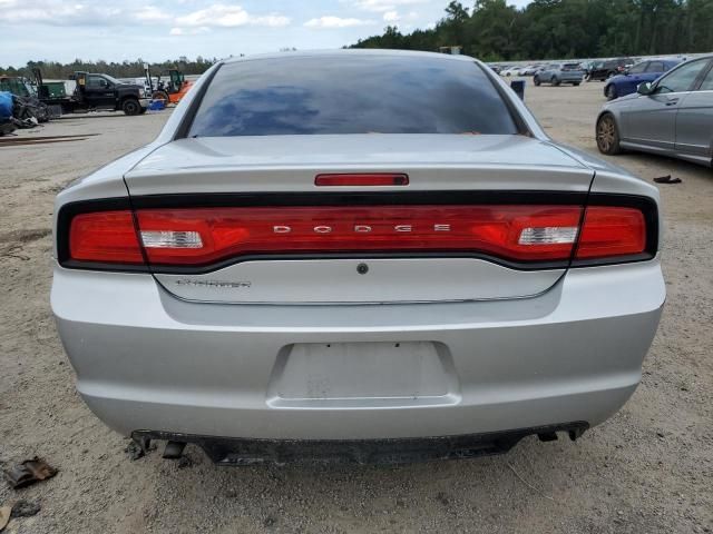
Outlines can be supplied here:
[[[575, 269], [499, 301], [196, 304], [149, 275], [57, 266], [51, 296], [77, 387], [116, 431], [309, 441], [594, 426], [636, 388], [664, 298], [656, 260]], [[364, 342], [445, 347], [447, 390], [285, 399], [275, 387], [286, 347]]]

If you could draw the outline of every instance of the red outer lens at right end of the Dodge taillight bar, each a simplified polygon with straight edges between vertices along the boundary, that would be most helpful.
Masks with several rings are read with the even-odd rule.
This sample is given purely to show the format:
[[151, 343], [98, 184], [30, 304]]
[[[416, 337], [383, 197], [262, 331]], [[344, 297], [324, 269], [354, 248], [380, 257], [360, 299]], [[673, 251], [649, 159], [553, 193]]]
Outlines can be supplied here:
[[636, 208], [590, 206], [577, 247], [577, 259], [632, 256], [646, 249], [646, 222]]

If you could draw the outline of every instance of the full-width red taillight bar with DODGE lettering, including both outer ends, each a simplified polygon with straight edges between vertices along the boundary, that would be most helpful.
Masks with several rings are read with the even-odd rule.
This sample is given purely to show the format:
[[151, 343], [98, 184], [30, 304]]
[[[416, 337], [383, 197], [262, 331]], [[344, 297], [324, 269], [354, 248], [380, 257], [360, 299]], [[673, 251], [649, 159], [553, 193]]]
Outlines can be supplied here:
[[147, 268], [146, 259], [160, 271], [204, 270], [255, 256], [368, 253], [486, 257], [541, 268], [655, 253], [655, 207], [584, 209], [414, 204], [60, 211], [59, 260], [68, 267], [136, 270]]

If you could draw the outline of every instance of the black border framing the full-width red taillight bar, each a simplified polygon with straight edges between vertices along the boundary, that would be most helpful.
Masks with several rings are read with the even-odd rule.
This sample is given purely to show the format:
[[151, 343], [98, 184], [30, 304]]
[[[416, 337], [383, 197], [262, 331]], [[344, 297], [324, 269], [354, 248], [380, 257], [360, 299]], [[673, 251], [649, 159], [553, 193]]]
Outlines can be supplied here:
[[[588, 198], [587, 198], [588, 197]], [[208, 207], [284, 207], [284, 206], [373, 206], [373, 205], [569, 205], [569, 206], [631, 206], [643, 210], [647, 225], [646, 253], [605, 260], [514, 261], [473, 251], [399, 251], [379, 253], [355, 250], [339, 254], [323, 251], [309, 254], [247, 254], [203, 266], [117, 265], [78, 261], [69, 257], [69, 225], [78, 214], [114, 209], [149, 208], [208, 208]], [[184, 274], [212, 273], [242, 261], [301, 260], [301, 259], [373, 259], [373, 258], [475, 258], [492, 261], [516, 270], [565, 269], [593, 265], [643, 261], [655, 256], [658, 247], [658, 214], [656, 204], [648, 198], [629, 195], [608, 195], [563, 191], [369, 191], [369, 192], [246, 192], [203, 195], [148, 195], [120, 199], [79, 201], [65, 205], [58, 216], [58, 259], [62, 267], [74, 269], [113, 270], [127, 273]], [[574, 257], [574, 256], [573, 256]]]

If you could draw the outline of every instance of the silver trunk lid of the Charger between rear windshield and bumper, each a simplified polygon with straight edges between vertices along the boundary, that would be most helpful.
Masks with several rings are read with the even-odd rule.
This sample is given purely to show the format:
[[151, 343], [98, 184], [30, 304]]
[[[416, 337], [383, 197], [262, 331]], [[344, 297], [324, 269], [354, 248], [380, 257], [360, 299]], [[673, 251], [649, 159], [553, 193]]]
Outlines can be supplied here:
[[[318, 175], [374, 172], [406, 175], [408, 184], [315, 185]], [[176, 226], [184, 240], [193, 238], [186, 221], [195, 222], [195, 210], [223, 235], [234, 236], [240, 226], [251, 236], [240, 250], [188, 265], [160, 259], [159, 241], [149, 259], [156, 279], [177, 297], [371, 304], [547, 290], [566, 261], [520, 261], [519, 253], [481, 247], [488, 237], [473, 246], [462, 239], [476, 227], [495, 231], [482, 229], [485, 219], [517, 219], [521, 205], [537, 205], [549, 217], [565, 205], [580, 209], [592, 176], [551, 144], [525, 136], [274, 136], [174, 141], [137, 165], [126, 182], [140, 229], [149, 233], [145, 244], [165, 237], [156, 221], [170, 210], [184, 225]], [[217, 243], [216, 236], [204, 240]]]

